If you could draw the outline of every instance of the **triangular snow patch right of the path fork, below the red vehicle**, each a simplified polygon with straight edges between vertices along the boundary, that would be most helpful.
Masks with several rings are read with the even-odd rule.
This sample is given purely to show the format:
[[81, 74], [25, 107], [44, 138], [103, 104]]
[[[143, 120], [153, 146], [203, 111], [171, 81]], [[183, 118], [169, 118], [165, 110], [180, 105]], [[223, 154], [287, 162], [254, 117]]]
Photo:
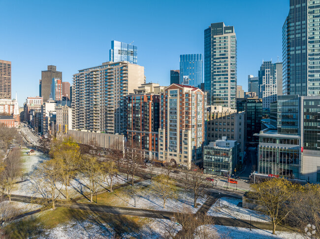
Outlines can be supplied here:
[[211, 216], [230, 217], [241, 220], [250, 220], [250, 215], [252, 215], [253, 221], [269, 222], [269, 217], [267, 215], [254, 210], [238, 207], [237, 205], [240, 202], [242, 202], [242, 200], [238, 198], [222, 197], [220, 198], [220, 206], [218, 199], [209, 209], [207, 214]]

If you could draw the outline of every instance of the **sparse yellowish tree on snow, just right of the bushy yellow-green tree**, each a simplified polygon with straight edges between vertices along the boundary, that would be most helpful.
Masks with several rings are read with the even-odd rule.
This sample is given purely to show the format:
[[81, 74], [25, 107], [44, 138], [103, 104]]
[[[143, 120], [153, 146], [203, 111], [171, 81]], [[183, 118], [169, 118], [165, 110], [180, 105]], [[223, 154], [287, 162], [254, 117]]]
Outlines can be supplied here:
[[93, 202], [93, 195], [102, 185], [105, 177], [103, 176], [104, 162], [99, 162], [95, 156], [85, 155], [80, 158], [79, 170], [83, 174], [83, 182], [89, 188], [90, 202]]

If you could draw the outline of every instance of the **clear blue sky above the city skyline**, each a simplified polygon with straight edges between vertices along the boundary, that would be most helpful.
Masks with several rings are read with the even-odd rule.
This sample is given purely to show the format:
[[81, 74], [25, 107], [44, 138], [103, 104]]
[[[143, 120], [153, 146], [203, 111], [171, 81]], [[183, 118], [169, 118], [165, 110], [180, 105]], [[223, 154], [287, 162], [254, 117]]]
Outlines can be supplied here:
[[170, 84], [180, 54], [204, 53], [204, 29], [234, 26], [237, 84], [248, 89], [262, 60], [282, 61], [289, 0], [0, 0], [0, 59], [12, 62], [12, 98], [39, 95], [41, 71], [56, 65], [63, 81], [109, 61], [111, 41], [138, 47], [146, 82]]

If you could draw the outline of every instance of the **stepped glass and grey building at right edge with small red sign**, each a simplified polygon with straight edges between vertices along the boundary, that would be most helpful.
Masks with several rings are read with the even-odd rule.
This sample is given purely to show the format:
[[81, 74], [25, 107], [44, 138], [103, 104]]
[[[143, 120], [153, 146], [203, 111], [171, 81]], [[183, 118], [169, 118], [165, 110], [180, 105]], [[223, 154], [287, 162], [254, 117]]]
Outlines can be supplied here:
[[259, 174], [320, 183], [319, 111], [320, 96], [278, 97], [277, 130], [255, 134]]

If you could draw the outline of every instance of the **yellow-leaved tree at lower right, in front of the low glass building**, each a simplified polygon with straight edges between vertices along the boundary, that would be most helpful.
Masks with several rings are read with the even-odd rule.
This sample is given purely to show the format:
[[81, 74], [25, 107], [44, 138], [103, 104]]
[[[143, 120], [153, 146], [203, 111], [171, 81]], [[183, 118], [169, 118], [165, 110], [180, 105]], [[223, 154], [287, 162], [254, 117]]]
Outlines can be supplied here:
[[276, 226], [290, 213], [286, 204], [292, 198], [292, 184], [285, 179], [271, 179], [251, 187], [255, 190], [253, 195], [263, 206], [263, 211], [270, 216], [272, 234], [275, 234]]

